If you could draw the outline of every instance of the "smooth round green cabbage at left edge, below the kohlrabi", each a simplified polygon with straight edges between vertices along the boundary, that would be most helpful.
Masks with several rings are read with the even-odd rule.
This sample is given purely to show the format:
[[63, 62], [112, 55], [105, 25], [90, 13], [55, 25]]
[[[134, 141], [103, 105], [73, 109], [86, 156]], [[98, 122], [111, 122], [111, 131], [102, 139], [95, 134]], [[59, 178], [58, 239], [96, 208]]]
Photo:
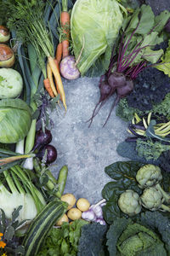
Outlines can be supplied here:
[[18, 143], [31, 126], [31, 108], [20, 99], [0, 101], [0, 143]]

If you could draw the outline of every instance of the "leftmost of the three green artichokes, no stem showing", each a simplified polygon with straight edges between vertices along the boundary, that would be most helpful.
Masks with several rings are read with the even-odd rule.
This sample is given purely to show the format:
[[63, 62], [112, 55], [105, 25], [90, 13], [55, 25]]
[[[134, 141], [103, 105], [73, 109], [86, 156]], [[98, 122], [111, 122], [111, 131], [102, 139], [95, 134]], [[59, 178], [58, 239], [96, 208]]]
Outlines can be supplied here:
[[139, 195], [132, 189], [127, 189], [122, 193], [118, 200], [118, 206], [129, 216], [138, 214], [142, 208]]

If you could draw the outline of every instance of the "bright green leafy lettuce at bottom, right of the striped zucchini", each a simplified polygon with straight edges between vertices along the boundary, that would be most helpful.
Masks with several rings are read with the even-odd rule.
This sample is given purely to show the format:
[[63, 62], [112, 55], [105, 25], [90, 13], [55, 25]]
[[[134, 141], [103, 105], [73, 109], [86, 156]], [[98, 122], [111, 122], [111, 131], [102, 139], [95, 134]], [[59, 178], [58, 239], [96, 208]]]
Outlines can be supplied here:
[[62, 224], [60, 229], [52, 229], [42, 244], [41, 250], [37, 256], [76, 256], [81, 229], [85, 224], [88, 224], [88, 222], [78, 219], [73, 221], [72, 224]]

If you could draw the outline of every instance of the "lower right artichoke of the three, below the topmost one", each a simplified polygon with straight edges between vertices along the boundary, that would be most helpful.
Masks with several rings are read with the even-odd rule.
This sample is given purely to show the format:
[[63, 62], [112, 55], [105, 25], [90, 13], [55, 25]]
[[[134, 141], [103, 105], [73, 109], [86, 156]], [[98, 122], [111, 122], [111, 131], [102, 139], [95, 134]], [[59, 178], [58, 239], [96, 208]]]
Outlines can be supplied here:
[[170, 207], [162, 205], [165, 201], [163, 195], [156, 187], [151, 187], [144, 189], [143, 194], [140, 196], [142, 206], [149, 209], [150, 211], [156, 211], [158, 209], [163, 209], [170, 212]]

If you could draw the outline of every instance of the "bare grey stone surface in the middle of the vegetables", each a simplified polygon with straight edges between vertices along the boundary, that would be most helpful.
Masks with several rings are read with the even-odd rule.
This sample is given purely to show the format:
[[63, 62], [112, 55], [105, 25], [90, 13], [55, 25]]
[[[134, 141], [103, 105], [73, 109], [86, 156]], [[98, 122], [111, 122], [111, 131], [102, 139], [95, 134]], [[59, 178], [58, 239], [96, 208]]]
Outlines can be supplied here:
[[68, 111], [59, 108], [52, 113], [54, 120], [53, 144], [58, 150], [57, 166], [52, 172], [57, 177], [61, 166], [67, 165], [69, 174], [65, 193], [77, 199], [87, 198], [91, 203], [101, 199], [101, 190], [111, 181], [105, 174], [105, 166], [117, 160], [125, 160], [116, 154], [116, 146], [127, 137], [127, 124], [111, 114], [103, 128], [111, 108], [113, 97], [101, 108], [90, 128], [86, 122], [99, 101], [99, 78], [81, 78], [64, 81]]

